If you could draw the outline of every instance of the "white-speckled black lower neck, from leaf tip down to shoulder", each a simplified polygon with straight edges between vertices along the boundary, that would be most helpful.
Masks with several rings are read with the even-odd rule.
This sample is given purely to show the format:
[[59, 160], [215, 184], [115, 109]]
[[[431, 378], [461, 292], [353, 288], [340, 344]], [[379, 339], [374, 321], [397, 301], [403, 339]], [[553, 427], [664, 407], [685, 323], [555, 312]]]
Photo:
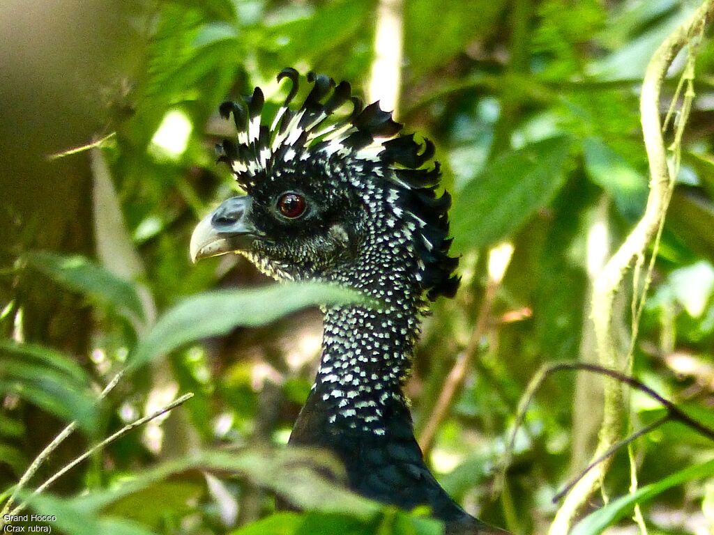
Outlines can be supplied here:
[[388, 283], [390, 289], [365, 289], [373, 297], [391, 292], [379, 309], [343, 305], [326, 310], [320, 367], [291, 442], [328, 446], [325, 437], [380, 437], [395, 419], [411, 429], [402, 387], [418, 336], [418, 301], [408, 292], [396, 299], [399, 283]]

